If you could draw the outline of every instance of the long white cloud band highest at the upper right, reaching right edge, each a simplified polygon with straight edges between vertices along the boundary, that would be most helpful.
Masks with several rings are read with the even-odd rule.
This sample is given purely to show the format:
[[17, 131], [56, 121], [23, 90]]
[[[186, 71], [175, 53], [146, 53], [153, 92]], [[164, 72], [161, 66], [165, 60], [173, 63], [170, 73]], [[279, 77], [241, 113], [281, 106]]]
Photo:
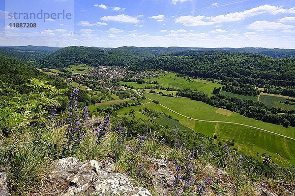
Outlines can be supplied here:
[[197, 25], [213, 25], [216, 23], [236, 22], [244, 20], [245, 18], [253, 17], [260, 14], [280, 14], [280, 13], [295, 13], [295, 7], [284, 9], [278, 6], [261, 5], [254, 7], [243, 12], [234, 12], [225, 15], [212, 16], [180, 16], [175, 19], [176, 23], [182, 23], [184, 26], [197, 26]]

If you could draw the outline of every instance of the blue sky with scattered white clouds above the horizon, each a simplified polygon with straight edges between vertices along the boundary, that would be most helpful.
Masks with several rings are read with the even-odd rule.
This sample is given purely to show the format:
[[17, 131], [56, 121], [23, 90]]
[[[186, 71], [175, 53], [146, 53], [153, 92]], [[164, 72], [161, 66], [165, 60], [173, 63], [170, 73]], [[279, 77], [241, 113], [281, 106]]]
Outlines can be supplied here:
[[295, 49], [295, 0], [1, 0], [0, 45]]

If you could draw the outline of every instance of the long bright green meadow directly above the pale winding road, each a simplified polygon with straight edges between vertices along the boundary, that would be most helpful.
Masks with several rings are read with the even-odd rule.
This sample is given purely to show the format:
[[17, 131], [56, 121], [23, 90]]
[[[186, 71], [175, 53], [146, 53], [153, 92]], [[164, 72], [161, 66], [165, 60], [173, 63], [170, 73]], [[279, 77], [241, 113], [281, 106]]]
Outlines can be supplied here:
[[146, 93], [145, 96], [153, 100], [158, 100], [160, 104], [194, 119], [241, 123], [295, 138], [295, 127], [289, 126], [288, 128], [285, 128], [282, 125], [264, 123], [262, 121], [244, 117], [235, 112], [231, 116], [218, 114], [215, 112], [218, 108], [189, 98], [170, 98], [150, 93]]

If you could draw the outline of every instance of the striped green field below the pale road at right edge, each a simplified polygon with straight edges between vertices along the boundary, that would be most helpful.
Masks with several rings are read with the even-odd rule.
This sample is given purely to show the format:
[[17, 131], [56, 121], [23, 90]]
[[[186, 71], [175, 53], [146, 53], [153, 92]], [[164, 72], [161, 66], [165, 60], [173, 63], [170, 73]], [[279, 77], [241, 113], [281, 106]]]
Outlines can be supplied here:
[[217, 142], [231, 142], [234, 139], [234, 147], [248, 155], [255, 157], [259, 152], [260, 157], [265, 152], [280, 165], [295, 163], [294, 140], [241, 125], [218, 123], [216, 127]]

